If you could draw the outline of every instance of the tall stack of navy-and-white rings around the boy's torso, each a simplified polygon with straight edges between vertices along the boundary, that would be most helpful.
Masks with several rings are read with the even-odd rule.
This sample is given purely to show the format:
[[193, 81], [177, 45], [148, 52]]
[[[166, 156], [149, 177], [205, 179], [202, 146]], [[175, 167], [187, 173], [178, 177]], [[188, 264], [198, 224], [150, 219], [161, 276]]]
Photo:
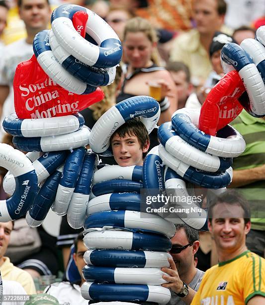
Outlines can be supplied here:
[[[107, 165], [94, 173], [85, 221], [82, 296], [95, 301], [159, 302], [160, 285], [176, 228], [160, 216], [141, 213], [142, 166]], [[132, 268], [137, 267], [137, 268]]]

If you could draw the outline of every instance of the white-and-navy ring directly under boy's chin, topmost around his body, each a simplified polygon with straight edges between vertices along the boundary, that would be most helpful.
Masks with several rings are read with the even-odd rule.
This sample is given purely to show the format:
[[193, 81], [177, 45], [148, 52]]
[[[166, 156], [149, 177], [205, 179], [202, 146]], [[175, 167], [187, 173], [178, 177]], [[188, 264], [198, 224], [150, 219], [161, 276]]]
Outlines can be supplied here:
[[95, 171], [92, 184], [112, 179], [126, 179], [132, 181], [142, 181], [142, 166], [104, 166]]

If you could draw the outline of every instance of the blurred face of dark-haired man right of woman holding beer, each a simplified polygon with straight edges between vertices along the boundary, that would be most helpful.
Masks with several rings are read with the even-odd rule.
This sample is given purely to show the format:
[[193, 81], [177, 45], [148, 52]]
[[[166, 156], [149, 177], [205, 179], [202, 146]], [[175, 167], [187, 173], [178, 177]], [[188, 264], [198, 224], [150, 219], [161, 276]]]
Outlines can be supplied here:
[[[177, 87], [177, 99], [178, 99], [178, 108], [179, 106], [185, 105], [185, 102], [190, 95], [190, 84], [187, 82], [186, 74], [184, 71], [170, 71], [170, 74], [175, 82]], [[182, 108], [182, 107], [181, 107]]]

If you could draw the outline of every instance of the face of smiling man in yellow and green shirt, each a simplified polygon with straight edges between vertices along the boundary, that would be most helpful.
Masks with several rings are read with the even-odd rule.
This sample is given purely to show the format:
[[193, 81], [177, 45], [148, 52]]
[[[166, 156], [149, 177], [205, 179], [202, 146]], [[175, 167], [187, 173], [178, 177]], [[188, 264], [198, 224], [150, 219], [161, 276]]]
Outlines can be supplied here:
[[251, 224], [248, 222], [245, 225], [243, 217], [244, 210], [239, 205], [218, 203], [214, 206], [213, 219], [208, 226], [217, 250], [233, 253], [245, 245]]

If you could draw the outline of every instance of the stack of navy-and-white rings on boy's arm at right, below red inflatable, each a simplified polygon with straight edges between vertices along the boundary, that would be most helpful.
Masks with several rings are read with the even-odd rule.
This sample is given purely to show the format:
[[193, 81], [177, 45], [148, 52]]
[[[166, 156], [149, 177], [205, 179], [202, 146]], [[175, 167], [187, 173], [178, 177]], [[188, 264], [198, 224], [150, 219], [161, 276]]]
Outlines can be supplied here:
[[[193, 207], [193, 216], [171, 211], [164, 213], [163, 217], [175, 223], [176, 218], [180, 218], [194, 229], [207, 230], [207, 213], [200, 208], [202, 202], [188, 202], [191, 196], [187, 192], [186, 181], [215, 193], [222, 192], [232, 180], [232, 158], [244, 152], [245, 141], [229, 125], [216, 137], [204, 134], [197, 128], [199, 114], [199, 110], [183, 108], [173, 114], [172, 122], [159, 127], [161, 144], [153, 148], [144, 160], [143, 186], [161, 191], [174, 189], [175, 198], [185, 196], [186, 200], [177, 202], [178, 208]], [[162, 165], [166, 165], [166, 169]]]

